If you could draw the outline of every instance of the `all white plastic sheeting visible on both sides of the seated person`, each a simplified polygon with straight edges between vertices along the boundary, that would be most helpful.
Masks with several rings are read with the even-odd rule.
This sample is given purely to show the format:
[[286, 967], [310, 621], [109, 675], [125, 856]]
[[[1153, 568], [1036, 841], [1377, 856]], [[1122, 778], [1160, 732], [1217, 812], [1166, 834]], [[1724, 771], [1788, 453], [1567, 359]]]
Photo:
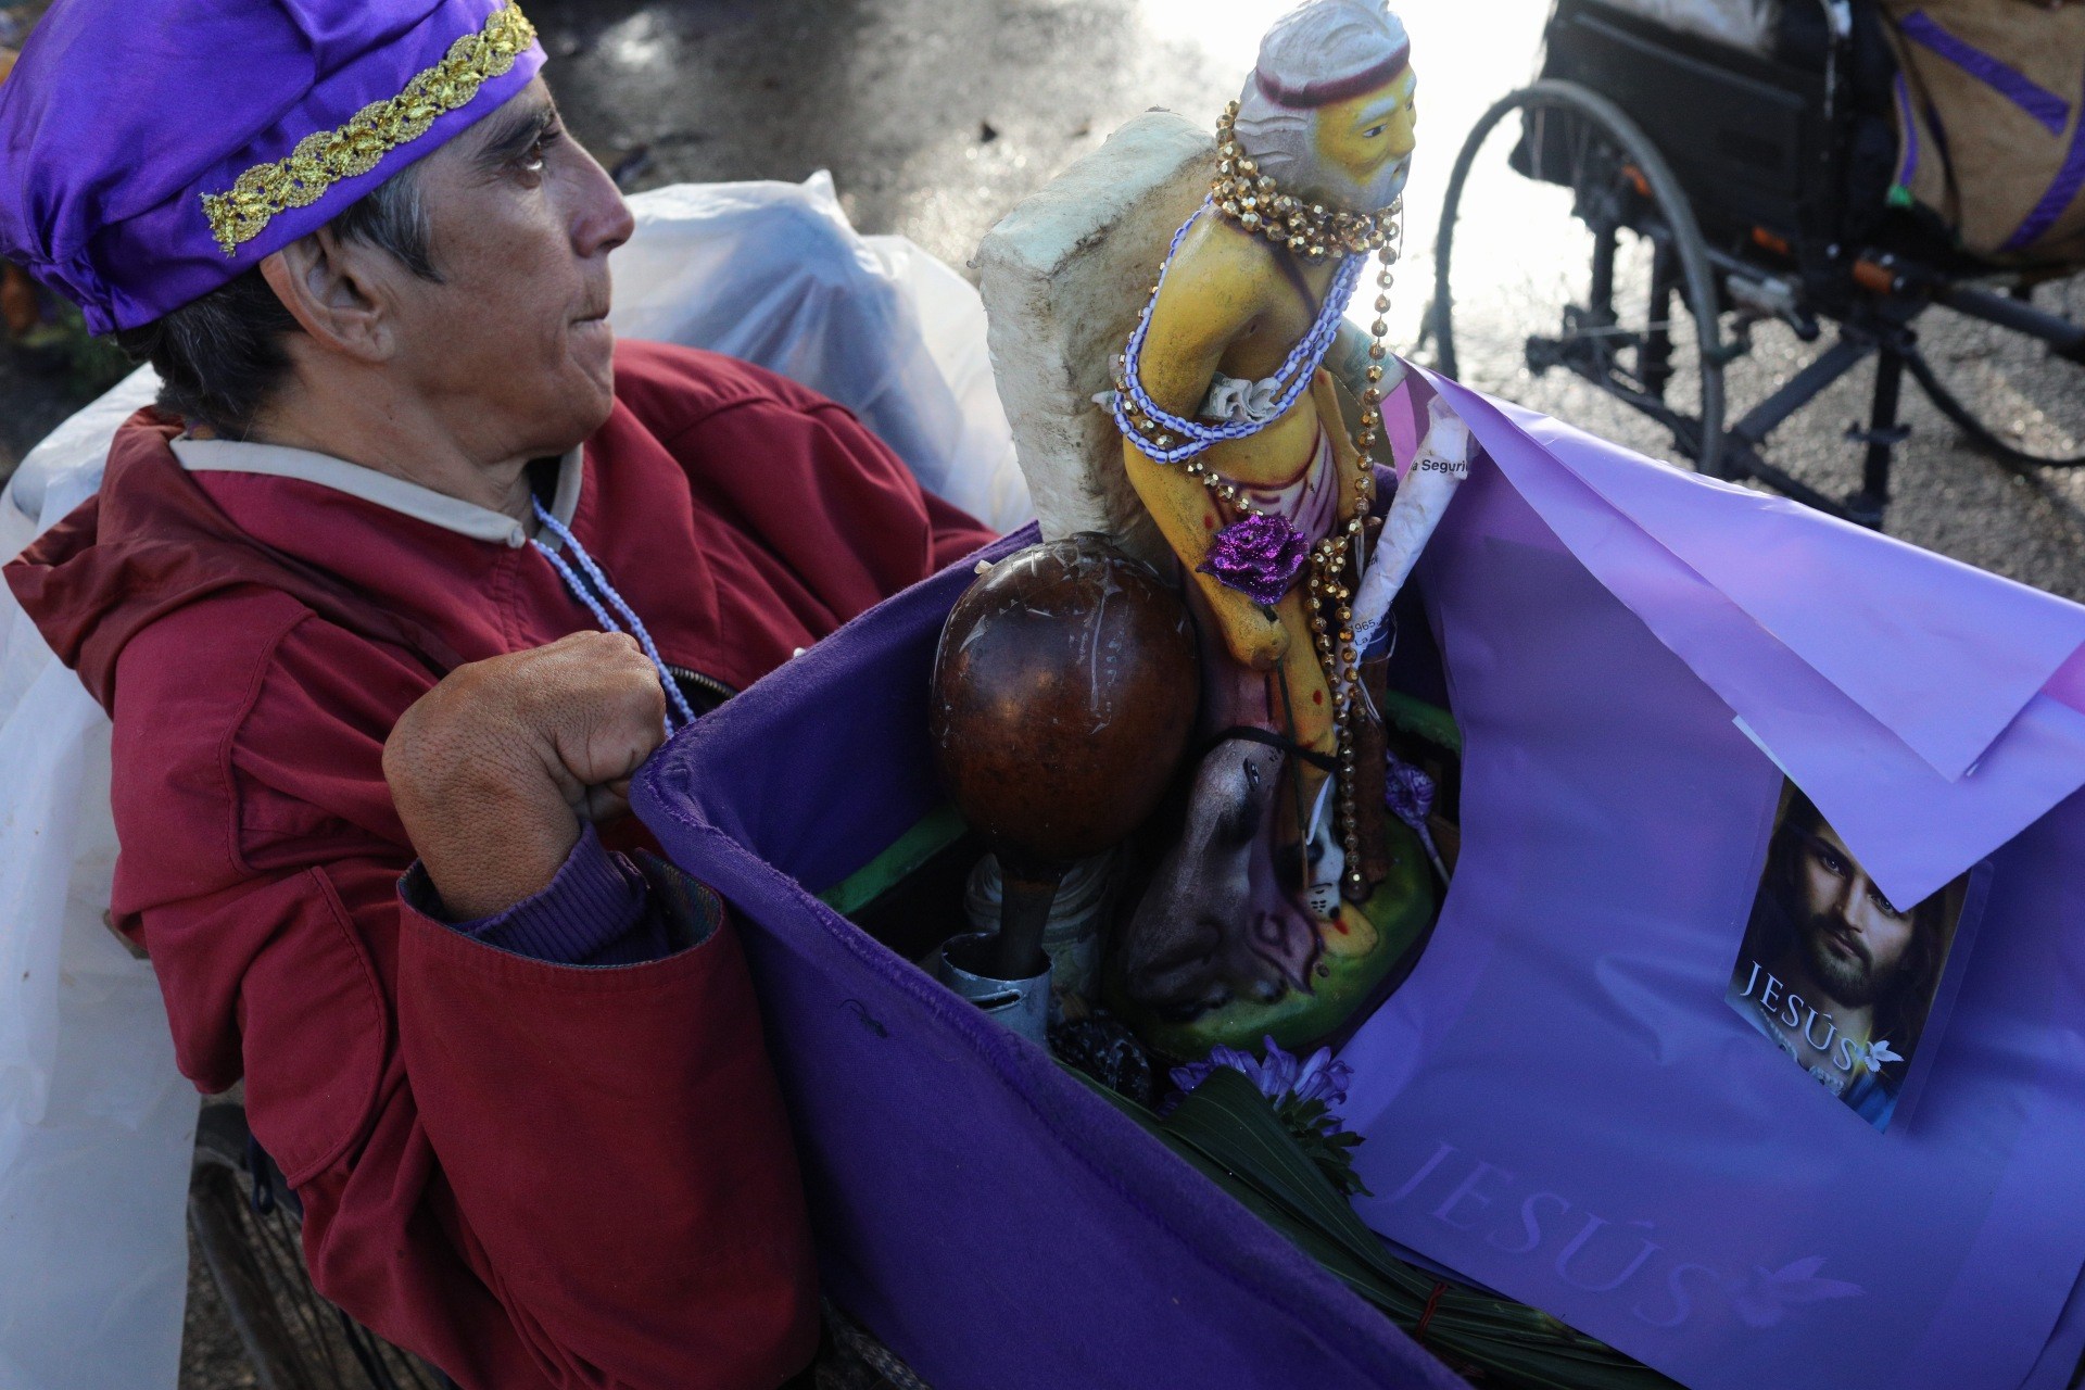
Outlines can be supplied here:
[[[849, 406], [922, 486], [1001, 529], [1028, 488], [984, 306], [903, 238], [861, 238], [824, 173], [632, 198], [615, 327], [759, 363]], [[0, 556], [98, 486], [158, 381], [133, 373], [0, 492]], [[0, 588], [0, 1390], [177, 1377], [196, 1096], [150, 965], [106, 929], [108, 721]]]

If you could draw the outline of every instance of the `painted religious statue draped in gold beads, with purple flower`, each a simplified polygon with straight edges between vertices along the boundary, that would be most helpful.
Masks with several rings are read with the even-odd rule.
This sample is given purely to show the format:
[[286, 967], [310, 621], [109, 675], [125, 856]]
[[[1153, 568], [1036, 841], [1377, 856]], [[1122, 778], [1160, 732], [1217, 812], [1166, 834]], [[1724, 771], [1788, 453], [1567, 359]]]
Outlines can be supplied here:
[[[1115, 369], [1122, 465], [1201, 634], [1209, 752], [1120, 944], [1130, 1007], [1170, 1029], [1170, 1050], [1330, 1032], [1395, 963], [1384, 913], [1432, 904], [1424, 859], [1380, 850], [1380, 790], [1359, 796], [1382, 786], [1364, 663], [1468, 465], [1468, 433], [1439, 406], [1389, 506], [1391, 475], [1370, 461], [1401, 371], [1382, 338], [1409, 54], [1382, 0], [1309, 0], [1270, 29], [1218, 123], [1211, 196]], [[1370, 256], [1374, 340], [1349, 436], [1320, 363]]]

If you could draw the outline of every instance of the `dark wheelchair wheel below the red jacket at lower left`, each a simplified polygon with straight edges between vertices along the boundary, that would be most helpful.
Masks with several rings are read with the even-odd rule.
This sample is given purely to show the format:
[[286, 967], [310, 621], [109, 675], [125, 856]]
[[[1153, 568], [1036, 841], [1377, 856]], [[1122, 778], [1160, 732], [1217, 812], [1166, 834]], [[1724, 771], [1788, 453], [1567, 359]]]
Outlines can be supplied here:
[[188, 1227], [261, 1390], [450, 1386], [432, 1365], [357, 1325], [311, 1286], [302, 1209], [252, 1144], [240, 1104], [206, 1104], [196, 1123]]

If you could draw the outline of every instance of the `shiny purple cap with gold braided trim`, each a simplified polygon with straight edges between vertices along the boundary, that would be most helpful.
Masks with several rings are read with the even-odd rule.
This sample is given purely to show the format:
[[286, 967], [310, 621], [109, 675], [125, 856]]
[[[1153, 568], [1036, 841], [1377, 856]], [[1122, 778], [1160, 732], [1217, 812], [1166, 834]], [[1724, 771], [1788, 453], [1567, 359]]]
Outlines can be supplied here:
[[542, 67], [509, 0], [56, 0], [0, 83], [0, 256], [138, 327], [325, 225]]

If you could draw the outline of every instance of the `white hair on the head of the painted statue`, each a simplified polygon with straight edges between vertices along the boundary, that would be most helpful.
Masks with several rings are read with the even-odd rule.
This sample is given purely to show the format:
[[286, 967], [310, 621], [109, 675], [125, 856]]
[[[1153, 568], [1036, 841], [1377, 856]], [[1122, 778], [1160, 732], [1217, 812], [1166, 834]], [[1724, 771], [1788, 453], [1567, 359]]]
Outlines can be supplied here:
[[1259, 73], [1297, 92], [1366, 73], [1405, 48], [1405, 25], [1387, 0], [1309, 0], [1289, 10], [1259, 40], [1259, 65], [1238, 96], [1238, 144], [1276, 179], [1305, 177], [1318, 165], [1318, 110], [1282, 106], [1261, 90]]

